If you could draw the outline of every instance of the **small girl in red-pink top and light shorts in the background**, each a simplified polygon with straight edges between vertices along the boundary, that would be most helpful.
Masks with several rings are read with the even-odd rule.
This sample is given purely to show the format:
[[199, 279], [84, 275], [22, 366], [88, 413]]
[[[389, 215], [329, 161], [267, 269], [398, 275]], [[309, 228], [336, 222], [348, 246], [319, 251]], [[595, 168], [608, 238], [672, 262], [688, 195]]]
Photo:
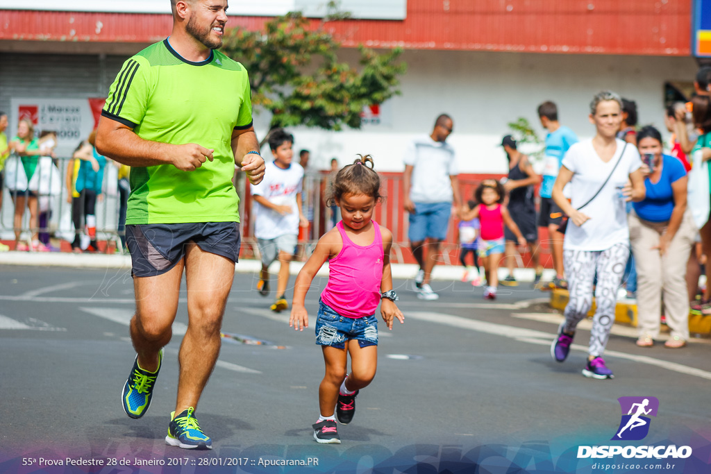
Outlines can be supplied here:
[[461, 212], [461, 220], [472, 220], [479, 217], [481, 225], [481, 240], [479, 244], [479, 258], [486, 274], [486, 287], [484, 288], [484, 298], [496, 298], [496, 286], [498, 285], [498, 262], [506, 250], [506, 242], [503, 238], [503, 226], [513, 232], [518, 239], [519, 245], [525, 245], [526, 239], [518, 230], [518, 225], [513, 222], [506, 206], [501, 204], [505, 196], [503, 186], [494, 179], [481, 182], [474, 197], [481, 203]]

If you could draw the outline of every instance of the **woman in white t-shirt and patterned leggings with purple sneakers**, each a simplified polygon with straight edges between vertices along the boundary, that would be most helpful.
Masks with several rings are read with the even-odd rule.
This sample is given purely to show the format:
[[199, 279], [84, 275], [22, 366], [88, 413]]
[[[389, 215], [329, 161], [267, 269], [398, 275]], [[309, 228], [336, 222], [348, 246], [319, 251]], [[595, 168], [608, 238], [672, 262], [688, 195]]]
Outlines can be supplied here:
[[[565, 154], [553, 186], [552, 198], [569, 216], [563, 260], [570, 289], [565, 321], [551, 345], [551, 355], [563, 362], [570, 352], [575, 328], [592, 306], [593, 285], [597, 310], [592, 323], [588, 360], [582, 374], [611, 379], [605, 365], [605, 350], [615, 319], [616, 293], [629, 257], [626, 201], [645, 196], [641, 161], [635, 146], [616, 139], [622, 121], [622, 101], [604, 91], [590, 103], [594, 138], [574, 144]], [[563, 188], [570, 183], [569, 203]]]

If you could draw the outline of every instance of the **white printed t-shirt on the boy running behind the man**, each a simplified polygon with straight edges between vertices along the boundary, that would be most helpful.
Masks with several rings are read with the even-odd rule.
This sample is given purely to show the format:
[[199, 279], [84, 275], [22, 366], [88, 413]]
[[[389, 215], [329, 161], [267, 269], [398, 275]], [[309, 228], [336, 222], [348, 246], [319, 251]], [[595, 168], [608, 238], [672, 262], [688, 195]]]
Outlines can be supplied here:
[[260, 195], [277, 205], [290, 205], [293, 212], [281, 215], [255, 201], [255, 237], [276, 239], [287, 234], [299, 235], [296, 195], [301, 193], [303, 181], [304, 168], [301, 168], [299, 163], [292, 163], [287, 169], [279, 168], [274, 161], [267, 163], [262, 182], [252, 185], [252, 195]]

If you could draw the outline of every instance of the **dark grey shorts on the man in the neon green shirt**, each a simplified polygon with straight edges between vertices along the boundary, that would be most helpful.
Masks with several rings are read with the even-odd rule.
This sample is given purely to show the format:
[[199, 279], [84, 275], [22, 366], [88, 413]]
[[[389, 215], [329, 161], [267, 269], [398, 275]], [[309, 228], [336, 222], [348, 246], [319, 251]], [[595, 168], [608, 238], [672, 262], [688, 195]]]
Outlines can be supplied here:
[[240, 254], [237, 222], [188, 224], [141, 224], [126, 226], [126, 244], [132, 276], [157, 276], [176, 266], [185, 256], [186, 244], [194, 242], [205, 252], [237, 263]]

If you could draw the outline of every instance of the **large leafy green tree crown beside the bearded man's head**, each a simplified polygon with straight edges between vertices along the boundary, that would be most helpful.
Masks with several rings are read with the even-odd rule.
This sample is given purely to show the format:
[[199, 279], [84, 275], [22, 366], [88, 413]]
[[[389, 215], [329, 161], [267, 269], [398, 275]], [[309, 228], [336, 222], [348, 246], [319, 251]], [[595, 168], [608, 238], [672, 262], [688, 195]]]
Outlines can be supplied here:
[[235, 28], [225, 34], [222, 50], [247, 68], [252, 104], [271, 113], [270, 129], [358, 129], [364, 107], [400, 94], [402, 50], [378, 54], [360, 46], [359, 67], [338, 61], [341, 43], [324, 25], [347, 16], [332, 14], [314, 27], [300, 13], [289, 13], [267, 21], [263, 31]]

